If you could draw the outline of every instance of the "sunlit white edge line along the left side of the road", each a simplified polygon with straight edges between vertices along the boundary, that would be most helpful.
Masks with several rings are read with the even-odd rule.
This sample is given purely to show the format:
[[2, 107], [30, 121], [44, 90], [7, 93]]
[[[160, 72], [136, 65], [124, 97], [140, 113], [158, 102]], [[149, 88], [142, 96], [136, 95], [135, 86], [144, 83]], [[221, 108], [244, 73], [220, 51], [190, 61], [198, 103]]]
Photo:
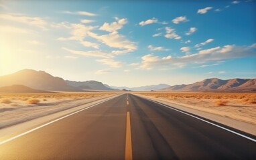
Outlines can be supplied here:
[[[115, 97], [114, 97], [114, 98], [115, 98]], [[75, 111], [74, 113], [70, 113], [69, 115], [65, 115], [64, 117], [60, 117], [60, 118], [58, 118], [58, 119], [55, 119], [54, 121], [50, 121], [50, 122], [48, 122], [48, 123], [46, 123], [46, 124], [44, 124], [44, 125], [40, 125], [39, 127], [36, 127], [36, 128], [34, 128], [34, 129], [30, 129], [29, 131], [26, 131], [26, 132], [21, 133], [21, 134], [19, 134], [19, 135], [15, 135], [14, 137], [11, 137], [11, 138], [9, 138], [9, 139], [6, 139], [6, 140], [4, 140], [4, 141], [1, 141], [1, 142], [0, 142], [0, 145], [3, 145], [4, 143], [7, 143], [7, 142], [9, 142], [9, 141], [12, 141], [13, 139], [17, 139], [17, 138], [19, 138], [19, 137], [21, 137], [21, 136], [23, 136], [23, 135], [27, 135], [28, 133], [31, 133], [31, 132], [33, 132], [33, 131], [36, 131], [36, 130], [42, 128], [42, 127], [46, 127], [46, 125], [50, 125], [50, 124], [52, 124], [52, 123], [54, 123], [54, 122], [56, 122], [56, 121], [60, 121], [61, 119], [64, 119], [64, 118], [66, 118], [66, 117], [69, 117], [70, 115], [74, 115], [74, 114], [76, 114], [76, 113], [79, 113], [79, 112], [84, 111], [84, 110], [86, 110], [86, 109], [89, 109], [89, 108], [91, 108], [91, 107], [94, 107], [95, 105], [99, 105], [99, 104], [101, 104], [101, 103], [104, 103], [104, 102], [106, 102], [106, 101], [109, 101], [110, 99], [113, 99], [113, 97], [111, 97], [111, 98], [109, 98], [109, 99], [107, 99], [107, 100], [105, 100], [105, 101], [96, 103], [96, 104], [94, 104], [94, 105], [90, 105], [89, 107], [86, 107], [86, 108], [84, 108], [84, 109], [80, 109], [80, 110], [78, 110], [78, 111]]]

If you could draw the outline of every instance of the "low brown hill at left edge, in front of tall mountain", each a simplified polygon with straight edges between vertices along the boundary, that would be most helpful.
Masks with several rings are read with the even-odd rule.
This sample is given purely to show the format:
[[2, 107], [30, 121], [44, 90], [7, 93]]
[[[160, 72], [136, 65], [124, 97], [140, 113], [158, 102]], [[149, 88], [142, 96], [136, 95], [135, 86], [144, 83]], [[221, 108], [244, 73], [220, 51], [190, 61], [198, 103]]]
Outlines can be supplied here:
[[25, 85], [11, 85], [6, 87], [0, 87], [0, 92], [3, 92], [3, 93], [54, 93], [50, 91], [31, 89]]

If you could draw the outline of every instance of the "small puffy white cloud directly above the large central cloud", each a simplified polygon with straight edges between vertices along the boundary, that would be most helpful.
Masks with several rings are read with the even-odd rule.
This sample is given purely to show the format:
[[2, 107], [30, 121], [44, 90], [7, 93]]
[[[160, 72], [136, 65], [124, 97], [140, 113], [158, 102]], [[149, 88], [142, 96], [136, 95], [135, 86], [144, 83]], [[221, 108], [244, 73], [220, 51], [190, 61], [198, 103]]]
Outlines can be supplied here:
[[109, 32], [117, 31], [117, 30], [121, 29], [123, 27], [123, 25], [125, 25], [126, 23], [127, 23], [127, 19], [118, 19], [117, 18], [116, 22], [104, 23], [103, 26], [100, 27], [100, 30], [109, 31]]

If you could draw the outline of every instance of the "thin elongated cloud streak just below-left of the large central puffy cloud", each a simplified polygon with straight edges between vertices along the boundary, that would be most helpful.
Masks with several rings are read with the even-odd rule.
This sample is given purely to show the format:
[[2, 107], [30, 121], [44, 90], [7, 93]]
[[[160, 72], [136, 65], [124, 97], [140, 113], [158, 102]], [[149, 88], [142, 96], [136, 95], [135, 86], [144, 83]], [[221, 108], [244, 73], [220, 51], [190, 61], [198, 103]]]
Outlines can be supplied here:
[[63, 47], [62, 49], [74, 54], [74, 55], [83, 55], [85, 57], [103, 57], [103, 58], [109, 58], [109, 53], [106, 53], [104, 51], [76, 51], [72, 49], [67, 49]]

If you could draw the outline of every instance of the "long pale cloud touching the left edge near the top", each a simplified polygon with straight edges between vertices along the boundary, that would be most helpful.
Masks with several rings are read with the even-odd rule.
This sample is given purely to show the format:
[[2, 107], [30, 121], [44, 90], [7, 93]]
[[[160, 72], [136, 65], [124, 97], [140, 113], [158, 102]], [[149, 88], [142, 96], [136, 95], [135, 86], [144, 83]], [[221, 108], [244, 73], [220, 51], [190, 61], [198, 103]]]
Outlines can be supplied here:
[[21, 14], [0, 14], [0, 19], [33, 25], [44, 30], [46, 30], [46, 25], [48, 25], [48, 23], [41, 17], [29, 17]]

